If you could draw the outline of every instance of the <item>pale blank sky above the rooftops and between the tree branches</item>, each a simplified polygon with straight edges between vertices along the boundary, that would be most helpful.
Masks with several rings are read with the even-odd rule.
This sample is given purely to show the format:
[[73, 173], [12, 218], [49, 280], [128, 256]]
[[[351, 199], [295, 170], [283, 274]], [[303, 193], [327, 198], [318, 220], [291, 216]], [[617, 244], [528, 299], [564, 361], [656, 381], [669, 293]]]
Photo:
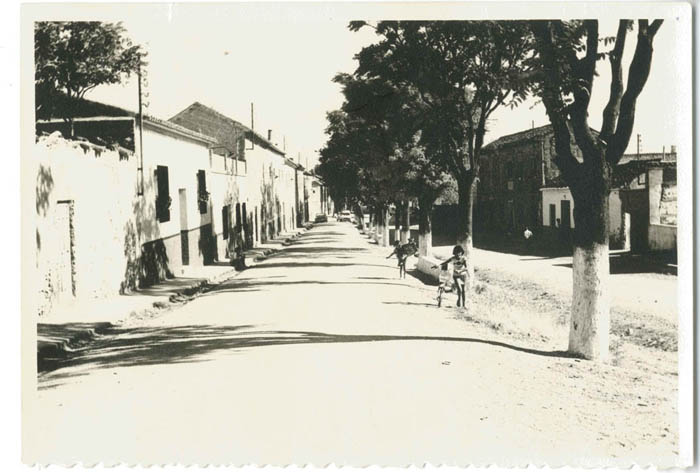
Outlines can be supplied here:
[[[331, 79], [352, 72], [354, 55], [377, 40], [374, 31], [354, 33], [348, 19], [333, 8], [298, 4], [124, 4], [100, 10], [110, 21], [121, 20], [128, 35], [148, 56], [147, 113], [169, 119], [198, 101], [250, 126], [284, 147], [288, 155], [313, 166], [326, 142], [326, 112], [341, 106], [340, 87]], [[613, 35], [616, 18], [601, 20], [601, 35]], [[655, 40], [651, 74], [637, 105], [635, 130], [628, 152], [660, 152], [677, 144], [680, 127], [676, 105], [690, 100], [682, 91], [679, 28], [667, 20]], [[626, 63], [636, 33], [628, 35]], [[598, 63], [590, 125], [600, 127], [609, 90], [609, 65]], [[88, 98], [126, 108], [138, 107], [136, 81], [96, 89]], [[544, 107], [530, 99], [516, 109], [502, 107], [488, 124], [485, 142], [548, 123]]]

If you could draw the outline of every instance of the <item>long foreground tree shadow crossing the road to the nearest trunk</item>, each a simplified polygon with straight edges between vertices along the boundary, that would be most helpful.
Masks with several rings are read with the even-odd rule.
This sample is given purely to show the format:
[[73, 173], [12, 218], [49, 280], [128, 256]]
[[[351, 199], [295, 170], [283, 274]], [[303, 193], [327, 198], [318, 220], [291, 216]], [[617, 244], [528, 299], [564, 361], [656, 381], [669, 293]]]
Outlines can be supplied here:
[[364, 343], [364, 342], [446, 342], [479, 343], [538, 356], [573, 358], [564, 351], [543, 351], [495, 340], [420, 335], [347, 335], [307, 331], [251, 330], [252, 325], [176, 327], [115, 327], [89, 349], [65, 360], [56, 373], [43, 373], [39, 389], [60, 386], [86, 371], [174, 363], [204, 362], [216, 353], [235, 352], [272, 345]]

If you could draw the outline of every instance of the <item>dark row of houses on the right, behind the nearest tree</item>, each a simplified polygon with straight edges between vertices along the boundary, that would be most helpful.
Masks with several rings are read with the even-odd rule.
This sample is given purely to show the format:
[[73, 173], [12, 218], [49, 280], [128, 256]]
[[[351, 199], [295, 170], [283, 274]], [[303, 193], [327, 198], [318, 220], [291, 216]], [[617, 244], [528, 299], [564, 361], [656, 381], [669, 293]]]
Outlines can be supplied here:
[[[575, 143], [572, 151], [582, 155]], [[571, 191], [554, 163], [551, 125], [506, 135], [483, 148], [475, 222], [481, 231], [566, 233]], [[610, 245], [634, 252], [676, 249], [676, 149], [625, 155], [610, 193]]]

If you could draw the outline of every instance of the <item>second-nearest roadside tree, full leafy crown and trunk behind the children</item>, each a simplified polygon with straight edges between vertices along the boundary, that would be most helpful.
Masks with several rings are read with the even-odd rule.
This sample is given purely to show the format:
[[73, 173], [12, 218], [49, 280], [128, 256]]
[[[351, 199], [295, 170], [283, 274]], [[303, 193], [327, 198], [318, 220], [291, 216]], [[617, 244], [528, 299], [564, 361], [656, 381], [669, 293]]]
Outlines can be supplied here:
[[[350, 29], [368, 25], [357, 21]], [[371, 25], [370, 25], [371, 26]], [[381, 77], [415, 97], [421, 142], [457, 181], [459, 235], [473, 284], [472, 216], [479, 159], [490, 115], [528, 92], [532, 53], [522, 21], [382, 21], [381, 37], [358, 55], [358, 74]]]

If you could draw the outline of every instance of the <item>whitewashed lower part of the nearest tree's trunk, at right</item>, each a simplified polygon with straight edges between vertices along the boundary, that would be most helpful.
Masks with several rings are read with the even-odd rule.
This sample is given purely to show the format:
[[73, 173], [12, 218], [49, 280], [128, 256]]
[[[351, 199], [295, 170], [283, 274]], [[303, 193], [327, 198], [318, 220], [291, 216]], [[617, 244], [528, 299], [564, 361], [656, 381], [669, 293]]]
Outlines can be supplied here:
[[574, 288], [569, 352], [589, 360], [607, 361], [610, 343], [610, 261], [608, 246], [574, 247]]

